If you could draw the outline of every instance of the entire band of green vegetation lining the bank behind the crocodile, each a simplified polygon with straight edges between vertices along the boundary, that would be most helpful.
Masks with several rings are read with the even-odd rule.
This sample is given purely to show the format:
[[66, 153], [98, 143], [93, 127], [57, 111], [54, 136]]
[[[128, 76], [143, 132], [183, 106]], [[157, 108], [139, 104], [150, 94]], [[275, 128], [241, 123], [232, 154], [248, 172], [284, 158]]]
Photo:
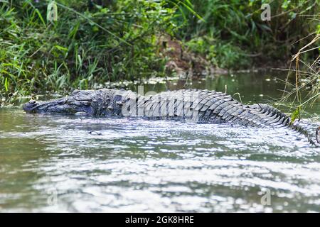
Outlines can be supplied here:
[[[239, 69], [286, 65], [320, 31], [319, 0], [60, 0], [58, 21], [47, 21], [50, 2], [0, 2], [0, 96], [164, 76], [161, 35], [215, 67]], [[268, 2], [271, 21], [262, 21]], [[314, 48], [302, 60], [318, 56]]]

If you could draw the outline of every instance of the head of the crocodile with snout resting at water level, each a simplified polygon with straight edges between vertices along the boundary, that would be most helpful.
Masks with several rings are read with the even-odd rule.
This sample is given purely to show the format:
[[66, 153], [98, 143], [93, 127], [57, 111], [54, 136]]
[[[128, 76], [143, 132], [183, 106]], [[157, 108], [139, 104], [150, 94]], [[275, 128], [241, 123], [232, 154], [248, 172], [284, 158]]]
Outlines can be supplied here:
[[92, 92], [75, 90], [70, 96], [50, 101], [30, 100], [23, 105], [27, 113], [92, 114]]

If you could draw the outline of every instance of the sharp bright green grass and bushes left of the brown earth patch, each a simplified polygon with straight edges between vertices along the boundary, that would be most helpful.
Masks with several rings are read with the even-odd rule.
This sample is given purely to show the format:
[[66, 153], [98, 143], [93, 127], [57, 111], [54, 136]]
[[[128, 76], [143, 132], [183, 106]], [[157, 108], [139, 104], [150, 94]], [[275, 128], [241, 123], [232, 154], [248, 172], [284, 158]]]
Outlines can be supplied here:
[[173, 34], [176, 9], [166, 1], [56, 1], [58, 21], [45, 21], [50, 1], [0, 3], [0, 94], [67, 92], [95, 83], [164, 73], [156, 35]]

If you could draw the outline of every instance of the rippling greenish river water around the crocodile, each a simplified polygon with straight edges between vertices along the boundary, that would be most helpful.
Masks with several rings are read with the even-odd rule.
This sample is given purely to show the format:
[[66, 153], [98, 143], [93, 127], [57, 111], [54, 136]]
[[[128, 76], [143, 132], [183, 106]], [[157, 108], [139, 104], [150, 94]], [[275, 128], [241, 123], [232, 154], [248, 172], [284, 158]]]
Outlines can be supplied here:
[[[143, 86], [227, 89], [268, 103], [284, 87], [271, 75], [284, 79], [260, 72]], [[310, 128], [319, 113], [319, 102], [304, 113]], [[1, 212], [319, 212], [319, 172], [320, 148], [292, 131], [0, 108]]]

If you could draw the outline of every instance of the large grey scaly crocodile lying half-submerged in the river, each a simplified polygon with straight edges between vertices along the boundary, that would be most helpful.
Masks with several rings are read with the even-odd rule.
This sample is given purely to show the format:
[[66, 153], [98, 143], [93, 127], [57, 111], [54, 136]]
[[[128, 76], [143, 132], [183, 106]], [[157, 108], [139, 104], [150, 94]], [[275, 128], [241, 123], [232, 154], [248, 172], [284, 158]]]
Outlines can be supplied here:
[[[124, 89], [73, 91], [50, 101], [31, 99], [23, 105], [27, 113], [127, 116], [150, 119], [191, 119], [198, 123], [230, 123], [241, 126], [292, 128], [319, 144], [299, 121], [267, 104], [246, 105], [223, 92], [181, 89], [142, 95]], [[317, 133], [318, 134], [318, 133]], [[318, 137], [318, 135], [316, 135]]]

